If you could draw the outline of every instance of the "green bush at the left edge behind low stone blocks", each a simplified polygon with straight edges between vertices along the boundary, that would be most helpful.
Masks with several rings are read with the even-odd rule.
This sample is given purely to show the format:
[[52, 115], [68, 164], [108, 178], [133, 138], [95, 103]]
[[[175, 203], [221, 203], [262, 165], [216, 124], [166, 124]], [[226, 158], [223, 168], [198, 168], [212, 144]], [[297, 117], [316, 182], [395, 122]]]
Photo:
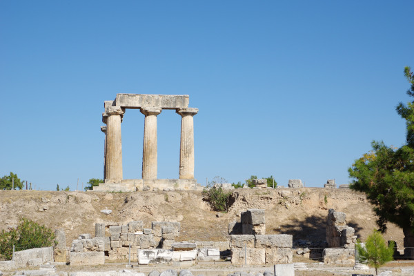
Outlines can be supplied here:
[[19, 226], [9, 232], [2, 230], [0, 233], [0, 259], [12, 259], [13, 245], [15, 251], [30, 248], [52, 246], [55, 240], [55, 233], [52, 229], [30, 219], [21, 218]]

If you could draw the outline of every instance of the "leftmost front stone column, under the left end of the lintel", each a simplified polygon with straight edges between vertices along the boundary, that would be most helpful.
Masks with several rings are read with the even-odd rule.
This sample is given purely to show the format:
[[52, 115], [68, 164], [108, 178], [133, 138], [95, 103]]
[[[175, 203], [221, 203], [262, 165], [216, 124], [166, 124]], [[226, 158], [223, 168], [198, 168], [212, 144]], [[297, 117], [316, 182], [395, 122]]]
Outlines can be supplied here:
[[110, 106], [105, 108], [105, 113], [108, 115], [105, 142], [105, 183], [121, 183], [121, 117], [124, 115], [124, 110], [119, 106]]

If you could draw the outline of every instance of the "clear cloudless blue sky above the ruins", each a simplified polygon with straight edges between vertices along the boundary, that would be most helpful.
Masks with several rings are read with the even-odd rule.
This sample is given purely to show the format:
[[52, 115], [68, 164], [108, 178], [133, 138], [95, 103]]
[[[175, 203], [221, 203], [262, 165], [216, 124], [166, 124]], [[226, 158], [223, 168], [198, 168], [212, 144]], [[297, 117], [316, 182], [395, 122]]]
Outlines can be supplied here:
[[[402, 146], [414, 1], [0, 1], [0, 177], [79, 190], [103, 177], [103, 101], [190, 95], [195, 177], [347, 184], [372, 140]], [[181, 117], [158, 116], [178, 178]], [[144, 115], [122, 123], [141, 178]]]

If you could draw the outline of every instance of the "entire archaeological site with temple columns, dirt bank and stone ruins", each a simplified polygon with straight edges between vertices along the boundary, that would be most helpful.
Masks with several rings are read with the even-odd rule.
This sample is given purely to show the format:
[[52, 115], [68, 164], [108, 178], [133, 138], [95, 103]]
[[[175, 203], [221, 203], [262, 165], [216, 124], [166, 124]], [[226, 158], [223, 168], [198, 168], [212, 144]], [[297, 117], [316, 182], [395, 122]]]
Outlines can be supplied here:
[[[142, 175], [124, 179], [121, 122], [127, 108], [144, 115]], [[181, 116], [177, 179], [157, 177], [157, 115]], [[377, 219], [366, 196], [328, 179], [324, 188], [301, 179], [271, 186], [201, 186], [195, 178], [194, 121], [188, 95], [117, 94], [104, 101], [103, 183], [87, 192], [0, 191], [0, 230], [26, 217], [55, 233], [55, 245], [15, 251], [2, 275], [293, 276], [371, 275], [357, 261]], [[286, 186], [286, 188], [285, 188]], [[217, 211], [210, 189], [226, 195]], [[213, 190], [214, 191], [214, 190]], [[413, 248], [388, 224], [397, 264], [383, 275], [414, 275]], [[406, 234], [406, 233], [405, 233]], [[404, 248], [404, 246], [406, 246]]]

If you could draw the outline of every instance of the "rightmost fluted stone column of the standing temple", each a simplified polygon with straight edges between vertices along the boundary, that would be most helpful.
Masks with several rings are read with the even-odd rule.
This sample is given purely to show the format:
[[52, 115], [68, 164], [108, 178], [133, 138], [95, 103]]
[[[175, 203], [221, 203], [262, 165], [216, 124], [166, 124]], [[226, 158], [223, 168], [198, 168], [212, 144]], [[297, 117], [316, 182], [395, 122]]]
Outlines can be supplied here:
[[179, 108], [181, 115], [181, 144], [179, 150], [179, 179], [194, 179], [194, 120], [198, 108]]

